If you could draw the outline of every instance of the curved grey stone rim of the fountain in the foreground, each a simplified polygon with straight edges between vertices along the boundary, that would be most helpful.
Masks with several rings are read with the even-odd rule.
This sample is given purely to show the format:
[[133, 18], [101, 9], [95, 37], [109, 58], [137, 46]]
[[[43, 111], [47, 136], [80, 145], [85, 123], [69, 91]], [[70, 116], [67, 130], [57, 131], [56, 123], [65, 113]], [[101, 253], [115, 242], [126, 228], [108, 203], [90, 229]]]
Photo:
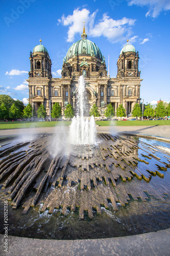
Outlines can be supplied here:
[[8, 236], [8, 252], [4, 252], [4, 236], [0, 234], [1, 255], [169, 255], [170, 228], [128, 237], [47, 240]]

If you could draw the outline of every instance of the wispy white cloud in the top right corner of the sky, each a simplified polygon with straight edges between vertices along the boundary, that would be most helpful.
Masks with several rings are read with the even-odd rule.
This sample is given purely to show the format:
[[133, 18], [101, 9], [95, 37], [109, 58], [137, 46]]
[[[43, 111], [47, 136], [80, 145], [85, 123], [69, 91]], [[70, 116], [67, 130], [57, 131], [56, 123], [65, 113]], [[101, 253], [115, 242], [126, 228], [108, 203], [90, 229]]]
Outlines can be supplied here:
[[128, 0], [129, 5], [148, 6], [147, 16], [157, 17], [161, 11], [170, 10], [169, 0]]

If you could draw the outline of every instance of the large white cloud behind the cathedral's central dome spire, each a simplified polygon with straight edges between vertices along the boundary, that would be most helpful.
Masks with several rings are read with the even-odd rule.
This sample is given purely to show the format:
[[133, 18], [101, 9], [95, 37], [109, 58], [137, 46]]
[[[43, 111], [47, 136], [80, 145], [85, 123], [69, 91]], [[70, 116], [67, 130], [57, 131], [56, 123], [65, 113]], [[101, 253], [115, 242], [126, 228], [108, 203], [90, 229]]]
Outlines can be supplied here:
[[82, 9], [74, 10], [72, 15], [65, 17], [64, 15], [61, 19], [58, 19], [59, 23], [63, 26], [69, 26], [67, 41], [72, 42], [75, 39], [77, 33], [82, 33], [83, 30], [83, 20], [86, 24], [86, 33], [92, 37], [105, 36], [111, 42], [122, 41], [125, 39], [125, 34], [131, 34], [131, 26], [135, 24], [135, 19], [122, 18], [114, 20], [110, 18], [106, 13], [103, 14], [102, 19], [99, 22], [95, 22], [95, 16], [98, 10], [90, 14], [89, 10]]

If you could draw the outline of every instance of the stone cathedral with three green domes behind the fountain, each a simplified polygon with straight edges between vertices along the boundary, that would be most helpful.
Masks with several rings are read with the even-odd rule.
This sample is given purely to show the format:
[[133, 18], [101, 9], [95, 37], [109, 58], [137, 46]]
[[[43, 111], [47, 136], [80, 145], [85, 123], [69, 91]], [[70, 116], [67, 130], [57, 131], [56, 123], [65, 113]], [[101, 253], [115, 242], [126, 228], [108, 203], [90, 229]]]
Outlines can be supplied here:
[[81, 39], [75, 42], [63, 59], [62, 77], [52, 77], [52, 61], [47, 49], [41, 44], [30, 52], [29, 102], [35, 113], [42, 103], [47, 116], [53, 104], [58, 102], [62, 114], [70, 103], [76, 108], [78, 79], [81, 75], [86, 81], [87, 111], [95, 103], [101, 115], [107, 104], [114, 107], [115, 115], [119, 104], [123, 104], [127, 116], [131, 114], [135, 103], [140, 103], [139, 55], [134, 46], [127, 45], [120, 51], [117, 60], [117, 76], [110, 78], [106, 70], [105, 57], [92, 41], [87, 39], [85, 26]]

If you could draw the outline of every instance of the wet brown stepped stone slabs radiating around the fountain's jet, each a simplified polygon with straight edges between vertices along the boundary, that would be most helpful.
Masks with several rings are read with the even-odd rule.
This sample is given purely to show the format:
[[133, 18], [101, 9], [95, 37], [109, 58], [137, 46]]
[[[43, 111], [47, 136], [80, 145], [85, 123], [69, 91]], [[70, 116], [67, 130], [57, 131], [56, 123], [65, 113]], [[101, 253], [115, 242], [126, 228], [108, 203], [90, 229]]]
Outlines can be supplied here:
[[[108, 201], [118, 210], [116, 203], [127, 205], [131, 198], [145, 202], [153, 196], [166, 201], [165, 195], [170, 194], [164, 178], [170, 156], [155, 141], [99, 134], [96, 146], [73, 145], [68, 155], [58, 151], [53, 156], [51, 136], [37, 137], [32, 143], [7, 143], [0, 151], [1, 190], [5, 189], [14, 209], [24, 208], [23, 214], [43, 200], [42, 212], [48, 209], [53, 214], [62, 208], [65, 215], [68, 208], [78, 208], [80, 219], [85, 215], [91, 219], [92, 209], [102, 214], [101, 205], [108, 209]], [[152, 183], [155, 177], [165, 184]]]

